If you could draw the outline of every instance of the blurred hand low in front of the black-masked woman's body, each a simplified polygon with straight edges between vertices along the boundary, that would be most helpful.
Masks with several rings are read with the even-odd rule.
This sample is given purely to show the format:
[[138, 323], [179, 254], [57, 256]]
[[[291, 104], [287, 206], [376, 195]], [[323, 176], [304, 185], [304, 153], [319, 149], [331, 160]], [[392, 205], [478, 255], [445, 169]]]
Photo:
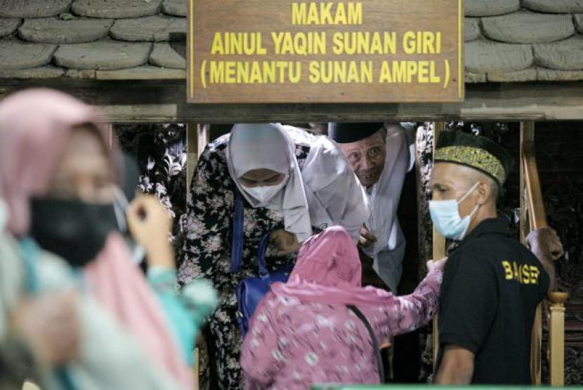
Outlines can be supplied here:
[[23, 299], [11, 316], [13, 328], [44, 363], [60, 365], [79, 355], [81, 330], [73, 292]]

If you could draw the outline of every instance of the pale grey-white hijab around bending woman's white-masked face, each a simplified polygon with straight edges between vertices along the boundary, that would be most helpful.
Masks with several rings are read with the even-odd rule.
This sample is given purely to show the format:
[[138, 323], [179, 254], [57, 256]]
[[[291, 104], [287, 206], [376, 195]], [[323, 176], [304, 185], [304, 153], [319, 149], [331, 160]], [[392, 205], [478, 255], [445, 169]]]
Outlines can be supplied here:
[[254, 208], [259, 202], [247, 194], [240, 177], [249, 170], [270, 169], [288, 175], [281, 191], [265, 207], [284, 215], [285, 230], [301, 243], [312, 235], [308, 200], [295, 156], [295, 144], [280, 123], [237, 123], [232, 127], [226, 150], [232, 180]]

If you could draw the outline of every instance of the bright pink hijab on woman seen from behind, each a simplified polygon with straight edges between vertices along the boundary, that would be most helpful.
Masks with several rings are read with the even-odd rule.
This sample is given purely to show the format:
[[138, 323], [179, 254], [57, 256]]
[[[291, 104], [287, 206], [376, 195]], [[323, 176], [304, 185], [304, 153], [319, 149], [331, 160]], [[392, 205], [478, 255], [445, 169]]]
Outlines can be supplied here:
[[308, 239], [287, 283], [274, 283], [275, 295], [322, 304], [386, 304], [390, 292], [361, 285], [358, 250], [348, 232], [329, 227]]

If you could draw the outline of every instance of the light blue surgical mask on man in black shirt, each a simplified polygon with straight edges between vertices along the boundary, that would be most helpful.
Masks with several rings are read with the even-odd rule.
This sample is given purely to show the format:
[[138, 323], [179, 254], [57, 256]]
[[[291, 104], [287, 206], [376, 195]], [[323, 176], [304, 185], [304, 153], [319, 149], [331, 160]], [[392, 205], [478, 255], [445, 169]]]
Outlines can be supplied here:
[[466, 235], [466, 231], [468, 231], [468, 227], [470, 226], [471, 217], [478, 210], [479, 205], [476, 205], [472, 212], [463, 218], [459, 215], [459, 208], [457, 206], [478, 187], [478, 184], [479, 182], [473, 184], [473, 187], [459, 201], [455, 199], [448, 201], [429, 201], [429, 213], [431, 214], [433, 225], [435, 225], [435, 229], [438, 229], [445, 238], [461, 240]]

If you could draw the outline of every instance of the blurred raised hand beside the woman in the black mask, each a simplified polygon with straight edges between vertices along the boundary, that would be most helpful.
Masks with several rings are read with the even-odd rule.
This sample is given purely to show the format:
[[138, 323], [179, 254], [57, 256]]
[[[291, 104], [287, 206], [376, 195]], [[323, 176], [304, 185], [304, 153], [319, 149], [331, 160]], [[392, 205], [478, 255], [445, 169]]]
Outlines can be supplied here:
[[134, 199], [127, 209], [133, 239], [145, 249], [149, 267], [175, 268], [169, 241], [172, 220], [155, 196]]

